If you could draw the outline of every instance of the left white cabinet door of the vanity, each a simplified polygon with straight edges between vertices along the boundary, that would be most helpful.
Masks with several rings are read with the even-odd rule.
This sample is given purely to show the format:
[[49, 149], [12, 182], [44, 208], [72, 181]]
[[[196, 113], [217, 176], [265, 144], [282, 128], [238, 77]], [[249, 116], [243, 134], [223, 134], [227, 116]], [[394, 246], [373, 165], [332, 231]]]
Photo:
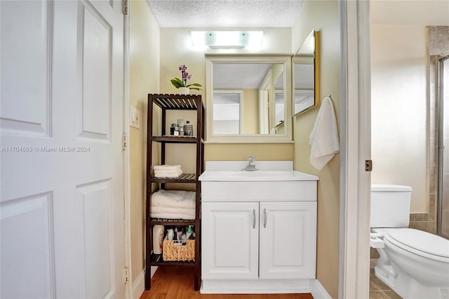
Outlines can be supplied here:
[[259, 204], [203, 202], [203, 279], [257, 279]]

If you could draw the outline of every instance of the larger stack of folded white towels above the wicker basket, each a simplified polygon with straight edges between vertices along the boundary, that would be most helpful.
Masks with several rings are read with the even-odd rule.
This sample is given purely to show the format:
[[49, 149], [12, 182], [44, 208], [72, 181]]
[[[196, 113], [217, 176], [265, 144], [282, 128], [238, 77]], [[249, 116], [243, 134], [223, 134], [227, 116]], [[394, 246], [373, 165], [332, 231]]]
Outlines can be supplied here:
[[152, 218], [195, 219], [195, 192], [159, 190], [152, 194]]

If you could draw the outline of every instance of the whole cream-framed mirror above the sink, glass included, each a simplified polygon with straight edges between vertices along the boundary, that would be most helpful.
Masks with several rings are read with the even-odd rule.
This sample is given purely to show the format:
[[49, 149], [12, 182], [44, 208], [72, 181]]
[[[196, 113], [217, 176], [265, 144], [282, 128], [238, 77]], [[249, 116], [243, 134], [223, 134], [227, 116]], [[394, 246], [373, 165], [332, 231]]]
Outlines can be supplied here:
[[206, 55], [206, 142], [291, 142], [290, 55]]

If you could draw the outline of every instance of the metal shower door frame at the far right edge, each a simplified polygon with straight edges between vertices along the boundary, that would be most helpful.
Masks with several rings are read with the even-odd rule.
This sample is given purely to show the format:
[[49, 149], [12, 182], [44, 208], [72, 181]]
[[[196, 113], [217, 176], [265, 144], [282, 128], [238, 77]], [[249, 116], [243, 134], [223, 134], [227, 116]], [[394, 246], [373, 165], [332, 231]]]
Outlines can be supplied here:
[[[438, 58], [438, 207], [436, 217], [436, 234], [449, 238], [441, 232], [443, 219], [443, 159], [444, 159], [444, 98], [443, 98], [443, 62], [449, 61], [449, 51], [441, 53]], [[449, 88], [449, 86], [446, 86]], [[446, 107], [448, 109], [448, 107]], [[448, 159], [449, 157], [446, 157]]]

